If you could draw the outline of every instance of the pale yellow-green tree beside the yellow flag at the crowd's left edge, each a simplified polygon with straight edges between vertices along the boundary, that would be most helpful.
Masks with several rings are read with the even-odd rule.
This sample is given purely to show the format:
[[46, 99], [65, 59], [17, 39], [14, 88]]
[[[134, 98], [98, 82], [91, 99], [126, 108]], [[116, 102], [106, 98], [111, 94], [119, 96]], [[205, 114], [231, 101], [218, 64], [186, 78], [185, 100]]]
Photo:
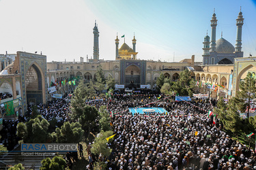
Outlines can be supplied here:
[[[113, 135], [113, 131], [101, 131], [98, 137], [95, 138], [94, 143], [91, 145], [91, 152], [93, 154], [102, 154], [103, 157], [108, 157], [112, 149], [107, 146], [108, 141], [106, 141], [106, 137], [110, 137]], [[109, 143], [111, 143], [112, 139], [109, 139]]]

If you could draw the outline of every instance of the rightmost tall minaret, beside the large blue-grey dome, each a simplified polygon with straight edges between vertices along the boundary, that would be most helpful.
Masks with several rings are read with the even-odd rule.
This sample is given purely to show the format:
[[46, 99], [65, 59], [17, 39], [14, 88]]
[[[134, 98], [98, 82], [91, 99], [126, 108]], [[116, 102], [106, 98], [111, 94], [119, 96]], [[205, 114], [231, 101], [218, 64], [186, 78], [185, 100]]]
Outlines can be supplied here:
[[242, 51], [242, 25], [244, 24], [244, 18], [242, 18], [242, 12], [240, 9], [240, 12], [238, 14], [238, 19], [236, 19], [236, 52]]

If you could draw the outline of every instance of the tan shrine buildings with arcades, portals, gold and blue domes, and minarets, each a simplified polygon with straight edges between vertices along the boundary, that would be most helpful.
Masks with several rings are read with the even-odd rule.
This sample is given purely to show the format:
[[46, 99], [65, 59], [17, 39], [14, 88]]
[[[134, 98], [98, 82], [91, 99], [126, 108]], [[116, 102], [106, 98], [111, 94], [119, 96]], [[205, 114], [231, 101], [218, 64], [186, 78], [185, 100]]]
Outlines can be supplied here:
[[[139, 60], [136, 49], [137, 39], [131, 39], [119, 48], [118, 36], [115, 39], [115, 60], [100, 60], [99, 31], [95, 23], [94, 58], [83, 61], [46, 63], [46, 56], [28, 52], [16, 54], [1, 54], [0, 73], [0, 100], [1, 116], [5, 118], [18, 118], [27, 111], [27, 105], [46, 103], [53, 97], [62, 97], [74, 91], [77, 84], [67, 83], [66, 80], [80, 78], [84, 82], [94, 82], [98, 67], [102, 67], [104, 78], [111, 75], [115, 80], [116, 90], [156, 89], [156, 80], [162, 73], [165, 78], [176, 81], [184, 69], [189, 69], [191, 77], [202, 84], [218, 84], [225, 88], [209, 91], [204, 88], [203, 93], [209, 97], [235, 96], [239, 90], [239, 83], [245, 78], [248, 71], [256, 73], [256, 57], [244, 58], [242, 52], [242, 12], [237, 19], [236, 48], [223, 37], [216, 41], [216, 14], [213, 14], [212, 39], [207, 35], [203, 42], [203, 65], [195, 62], [195, 56], [180, 62], [162, 62], [152, 60]], [[123, 36], [122, 36], [123, 37]], [[114, 49], [113, 49], [114, 50]], [[65, 81], [64, 81], [65, 80]], [[53, 85], [54, 84], [54, 85]], [[208, 91], [207, 91], [208, 90]], [[6, 106], [12, 106], [12, 114], [6, 114]], [[8, 107], [9, 108], [9, 107]], [[0, 121], [1, 122], [1, 121]], [[0, 124], [1, 125], [1, 124]]]

